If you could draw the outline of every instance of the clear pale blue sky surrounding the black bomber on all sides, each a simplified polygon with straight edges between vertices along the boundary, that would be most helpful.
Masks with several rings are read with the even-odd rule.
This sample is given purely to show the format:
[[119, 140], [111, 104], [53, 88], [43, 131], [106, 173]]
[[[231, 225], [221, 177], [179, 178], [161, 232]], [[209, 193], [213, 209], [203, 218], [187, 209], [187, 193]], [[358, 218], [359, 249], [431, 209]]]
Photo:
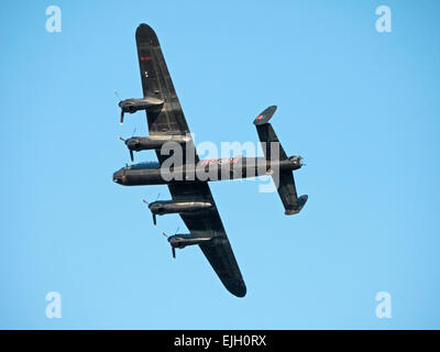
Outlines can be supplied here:
[[[47, 33], [45, 10], [62, 9]], [[392, 33], [375, 9], [392, 9]], [[437, 1], [3, 1], [0, 328], [440, 328]], [[113, 91], [141, 97], [134, 31], [148, 23], [196, 142], [257, 141], [273, 125], [309, 200], [284, 216], [257, 182], [211, 184], [248, 286], [239, 299], [197, 248], [170, 257], [121, 187]], [[143, 152], [140, 160], [154, 160]], [[45, 295], [59, 292], [62, 319]], [[391, 319], [375, 316], [378, 292]]]

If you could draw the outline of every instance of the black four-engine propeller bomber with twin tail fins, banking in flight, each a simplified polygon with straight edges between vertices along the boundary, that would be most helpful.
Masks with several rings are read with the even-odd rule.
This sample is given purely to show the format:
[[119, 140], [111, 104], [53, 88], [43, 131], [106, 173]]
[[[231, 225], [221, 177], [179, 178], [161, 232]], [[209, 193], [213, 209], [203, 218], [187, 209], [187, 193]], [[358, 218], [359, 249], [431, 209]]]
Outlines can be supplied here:
[[290, 216], [298, 213], [308, 199], [306, 195], [298, 197], [293, 175], [293, 170], [301, 168], [302, 158], [286, 155], [270, 123], [276, 110], [272, 106], [253, 121], [264, 157], [200, 160], [156, 33], [141, 24], [135, 37], [144, 98], [120, 99], [120, 122], [123, 123], [124, 113], [143, 110], [148, 135], [120, 140], [125, 142], [132, 161], [133, 152], [143, 150], [154, 150], [158, 161], [127, 165], [112, 175], [113, 182], [124, 186], [167, 185], [172, 200], [144, 202], [154, 224], [156, 216], [178, 213], [187, 227], [189, 233], [172, 237], [163, 233], [172, 246], [173, 257], [176, 257], [176, 249], [197, 244], [224, 287], [237, 297], [243, 297], [246, 286], [208, 182], [271, 175], [285, 215]]

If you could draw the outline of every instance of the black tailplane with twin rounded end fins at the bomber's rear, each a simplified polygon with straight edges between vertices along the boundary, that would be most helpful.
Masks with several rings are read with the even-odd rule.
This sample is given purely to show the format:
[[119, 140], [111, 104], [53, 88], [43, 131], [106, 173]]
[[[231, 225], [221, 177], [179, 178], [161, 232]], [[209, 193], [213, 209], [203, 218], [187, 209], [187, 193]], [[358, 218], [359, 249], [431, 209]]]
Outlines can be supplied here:
[[[256, 132], [258, 133], [266, 161], [275, 160], [276, 153], [278, 153], [279, 161], [287, 158], [286, 152], [279, 143], [274, 129], [272, 128], [271, 123], [268, 123], [268, 120], [271, 120], [275, 111], [275, 106], [268, 107], [254, 120]], [[308, 199], [308, 196], [297, 196], [293, 172], [285, 170], [280, 173], [273, 173], [272, 177], [277, 188], [279, 198], [283, 201], [284, 209], [286, 210], [285, 215], [292, 216], [301, 211]]]

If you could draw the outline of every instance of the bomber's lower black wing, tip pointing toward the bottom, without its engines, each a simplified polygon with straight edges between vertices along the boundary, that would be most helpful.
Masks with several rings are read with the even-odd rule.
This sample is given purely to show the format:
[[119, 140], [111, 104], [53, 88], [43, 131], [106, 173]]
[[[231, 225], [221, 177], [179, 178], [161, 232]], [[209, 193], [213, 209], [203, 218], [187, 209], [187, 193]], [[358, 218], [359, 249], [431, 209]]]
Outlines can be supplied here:
[[180, 215], [189, 232], [195, 237], [212, 237], [212, 241], [199, 244], [205, 256], [226, 288], [238, 297], [246, 294], [246, 286], [229, 243], [220, 215], [207, 183], [179, 183], [168, 185], [174, 200], [204, 200], [213, 205], [209, 210]]

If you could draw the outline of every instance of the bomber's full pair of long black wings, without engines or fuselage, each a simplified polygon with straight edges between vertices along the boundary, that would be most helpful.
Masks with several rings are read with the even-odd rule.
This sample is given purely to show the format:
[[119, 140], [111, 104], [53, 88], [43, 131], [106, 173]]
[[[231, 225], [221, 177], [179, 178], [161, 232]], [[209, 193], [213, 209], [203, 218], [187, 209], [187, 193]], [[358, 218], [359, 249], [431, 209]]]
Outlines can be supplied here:
[[[136, 44], [144, 97], [164, 101], [162, 109], [146, 113], [150, 134], [188, 135], [189, 129], [153, 29], [146, 24], [141, 24], [136, 30]], [[193, 139], [187, 147], [188, 145], [194, 151], [195, 162], [197, 163], [199, 158]], [[162, 156], [160, 151], [156, 154], [161, 163], [167, 157]], [[208, 183], [177, 182], [169, 184], [168, 188], [173, 200], [204, 200], [213, 205], [209, 210], [180, 215], [180, 217], [191, 235], [212, 238], [209, 243], [199, 244], [201, 251], [227, 289], [235, 296], [243, 297], [246, 294], [246, 286]]]

